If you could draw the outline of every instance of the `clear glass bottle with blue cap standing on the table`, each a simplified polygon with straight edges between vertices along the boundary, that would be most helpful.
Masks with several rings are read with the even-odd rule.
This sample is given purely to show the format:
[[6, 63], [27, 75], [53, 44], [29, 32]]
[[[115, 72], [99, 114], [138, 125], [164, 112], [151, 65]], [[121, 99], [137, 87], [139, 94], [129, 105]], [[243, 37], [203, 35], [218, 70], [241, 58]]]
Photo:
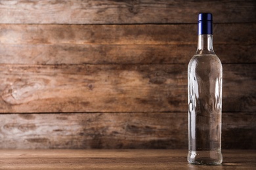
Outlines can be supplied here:
[[212, 14], [198, 16], [198, 49], [188, 64], [188, 163], [219, 165], [223, 67], [213, 51]]

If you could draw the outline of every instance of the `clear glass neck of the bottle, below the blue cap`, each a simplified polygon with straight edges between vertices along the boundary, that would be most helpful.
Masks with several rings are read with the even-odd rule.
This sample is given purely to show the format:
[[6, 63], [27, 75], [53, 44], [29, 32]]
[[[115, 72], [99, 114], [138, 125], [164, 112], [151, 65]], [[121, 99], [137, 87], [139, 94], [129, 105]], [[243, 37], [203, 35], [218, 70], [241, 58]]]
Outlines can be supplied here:
[[213, 35], [198, 35], [198, 50], [196, 50], [196, 54], [215, 54], [213, 51]]

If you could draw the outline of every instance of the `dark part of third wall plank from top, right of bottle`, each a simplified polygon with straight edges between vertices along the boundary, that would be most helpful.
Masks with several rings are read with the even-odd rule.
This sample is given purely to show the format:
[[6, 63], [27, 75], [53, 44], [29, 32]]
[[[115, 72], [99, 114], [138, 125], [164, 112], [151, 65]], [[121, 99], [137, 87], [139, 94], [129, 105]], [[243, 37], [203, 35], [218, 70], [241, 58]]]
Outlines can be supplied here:
[[[243, 67], [243, 70], [239, 68]], [[256, 101], [255, 93], [255, 64], [229, 64], [223, 65], [223, 110], [244, 110], [249, 107], [255, 110], [256, 106], [251, 103]], [[242, 92], [243, 91], [243, 92]], [[246, 93], [246, 97], [238, 93]], [[238, 97], [239, 96], [239, 97]], [[254, 111], [253, 111], [254, 112]]]

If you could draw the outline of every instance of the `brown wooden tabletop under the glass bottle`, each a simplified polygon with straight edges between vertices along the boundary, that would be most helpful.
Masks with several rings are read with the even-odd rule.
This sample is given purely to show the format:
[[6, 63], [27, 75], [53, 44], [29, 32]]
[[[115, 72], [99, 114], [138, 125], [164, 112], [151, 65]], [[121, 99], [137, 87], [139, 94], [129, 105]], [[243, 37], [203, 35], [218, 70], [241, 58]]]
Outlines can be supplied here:
[[190, 165], [187, 150], [0, 150], [0, 169], [256, 169], [256, 150], [224, 150], [223, 165]]

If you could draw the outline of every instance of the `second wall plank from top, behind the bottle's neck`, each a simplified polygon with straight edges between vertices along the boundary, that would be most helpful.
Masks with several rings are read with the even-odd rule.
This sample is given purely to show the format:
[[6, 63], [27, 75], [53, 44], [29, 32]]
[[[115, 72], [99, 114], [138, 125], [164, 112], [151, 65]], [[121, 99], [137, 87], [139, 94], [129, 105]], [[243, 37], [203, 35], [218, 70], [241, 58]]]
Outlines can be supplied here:
[[[196, 27], [0, 25], [0, 63], [187, 64], [196, 51]], [[214, 29], [215, 52], [223, 63], [256, 62], [256, 41], [251, 39], [256, 24], [216, 24]]]

